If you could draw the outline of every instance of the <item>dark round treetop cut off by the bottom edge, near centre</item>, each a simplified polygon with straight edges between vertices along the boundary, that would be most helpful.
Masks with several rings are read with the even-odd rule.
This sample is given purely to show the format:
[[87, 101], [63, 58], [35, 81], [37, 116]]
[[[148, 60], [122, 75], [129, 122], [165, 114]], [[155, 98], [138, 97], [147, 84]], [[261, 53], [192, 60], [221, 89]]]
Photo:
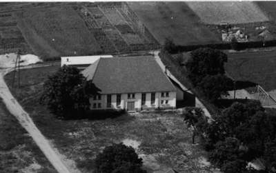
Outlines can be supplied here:
[[95, 173], [146, 173], [142, 159], [123, 143], [106, 147], [95, 159]]

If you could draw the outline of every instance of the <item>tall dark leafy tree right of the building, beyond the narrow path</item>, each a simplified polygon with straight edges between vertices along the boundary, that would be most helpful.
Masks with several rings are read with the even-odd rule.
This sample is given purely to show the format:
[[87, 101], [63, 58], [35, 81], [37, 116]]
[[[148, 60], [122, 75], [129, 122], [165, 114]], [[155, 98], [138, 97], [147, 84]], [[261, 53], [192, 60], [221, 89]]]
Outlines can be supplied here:
[[185, 63], [187, 76], [195, 88], [201, 90], [211, 103], [221, 95], [228, 95], [233, 81], [226, 77], [224, 63], [228, 57], [224, 52], [211, 48], [199, 48], [190, 53]]

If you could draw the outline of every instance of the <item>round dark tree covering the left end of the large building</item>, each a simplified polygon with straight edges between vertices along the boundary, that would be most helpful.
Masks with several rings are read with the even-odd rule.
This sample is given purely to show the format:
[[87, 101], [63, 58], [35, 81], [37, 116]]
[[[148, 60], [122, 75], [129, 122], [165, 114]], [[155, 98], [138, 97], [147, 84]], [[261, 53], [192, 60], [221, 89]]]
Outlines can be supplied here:
[[46, 104], [48, 110], [57, 116], [88, 110], [90, 97], [100, 91], [77, 68], [67, 65], [49, 76], [43, 87], [40, 103]]

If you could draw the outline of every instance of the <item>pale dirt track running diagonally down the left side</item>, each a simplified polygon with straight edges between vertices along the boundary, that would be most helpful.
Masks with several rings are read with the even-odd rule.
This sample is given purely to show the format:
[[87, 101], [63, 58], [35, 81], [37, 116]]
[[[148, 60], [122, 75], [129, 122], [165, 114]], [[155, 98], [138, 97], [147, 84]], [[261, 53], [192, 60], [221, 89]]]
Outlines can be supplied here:
[[[35, 143], [39, 146], [42, 152], [46, 155], [50, 163], [55, 167], [59, 173], [70, 173], [68, 166], [66, 166], [63, 161], [59, 158], [59, 153], [55, 152], [51, 147], [47, 139], [41, 134], [37, 127], [30, 119], [30, 116], [27, 112], [23, 110], [21, 105], [17, 102], [16, 99], [8, 90], [3, 76], [8, 72], [8, 70], [0, 70], [0, 96], [3, 99], [3, 102], [6, 104], [8, 110], [18, 119], [19, 123], [25, 128]], [[74, 171], [75, 172], [75, 171]]]

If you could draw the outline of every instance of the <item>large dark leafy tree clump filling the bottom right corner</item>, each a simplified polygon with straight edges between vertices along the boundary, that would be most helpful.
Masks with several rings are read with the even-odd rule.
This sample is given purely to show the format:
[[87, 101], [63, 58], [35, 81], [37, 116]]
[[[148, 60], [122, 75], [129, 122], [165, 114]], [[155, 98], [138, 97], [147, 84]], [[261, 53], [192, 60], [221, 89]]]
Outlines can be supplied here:
[[[255, 100], [233, 103], [208, 124], [204, 132], [205, 149], [210, 153], [210, 161], [219, 162], [217, 166], [223, 172], [244, 172], [247, 163], [256, 158], [264, 159], [266, 169], [275, 172], [275, 134], [276, 116], [265, 112], [262, 103]], [[246, 157], [240, 150], [247, 151]], [[235, 157], [229, 159], [227, 154]]]

